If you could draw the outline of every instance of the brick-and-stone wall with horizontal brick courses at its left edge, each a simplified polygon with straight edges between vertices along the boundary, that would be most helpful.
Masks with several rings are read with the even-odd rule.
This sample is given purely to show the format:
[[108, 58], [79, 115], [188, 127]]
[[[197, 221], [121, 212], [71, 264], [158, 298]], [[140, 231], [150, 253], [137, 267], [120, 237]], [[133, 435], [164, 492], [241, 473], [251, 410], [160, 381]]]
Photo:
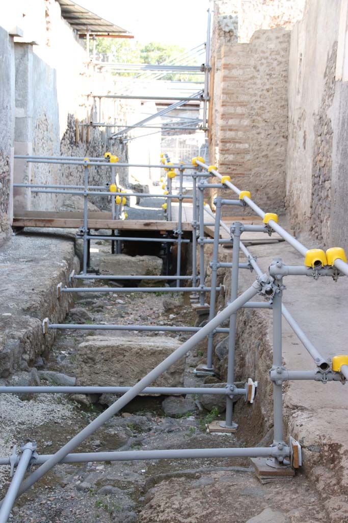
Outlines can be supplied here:
[[[257, 31], [250, 43], [225, 44], [218, 154], [211, 151], [221, 174], [277, 213], [285, 198], [289, 45], [290, 32], [282, 28]], [[231, 215], [231, 209], [223, 211]]]

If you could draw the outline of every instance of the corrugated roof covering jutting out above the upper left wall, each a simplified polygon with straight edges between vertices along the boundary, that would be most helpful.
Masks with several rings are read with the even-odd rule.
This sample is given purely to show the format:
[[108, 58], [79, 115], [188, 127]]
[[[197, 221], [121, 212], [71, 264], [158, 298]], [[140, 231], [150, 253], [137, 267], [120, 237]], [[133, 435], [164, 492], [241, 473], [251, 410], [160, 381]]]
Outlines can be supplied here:
[[57, 0], [57, 2], [61, 6], [62, 17], [79, 35], [86, 35], [89, 31], [91, 35], [133, 38], [126, 29], [115, 26], [112, 22], [104, 20], [71, 0]]

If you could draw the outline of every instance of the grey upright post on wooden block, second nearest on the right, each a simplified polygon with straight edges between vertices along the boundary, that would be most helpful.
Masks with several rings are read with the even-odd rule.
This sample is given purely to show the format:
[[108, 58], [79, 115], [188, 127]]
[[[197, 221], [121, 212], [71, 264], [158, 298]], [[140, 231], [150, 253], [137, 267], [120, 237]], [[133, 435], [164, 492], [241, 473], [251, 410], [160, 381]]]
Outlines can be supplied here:
[[[241, 240], [241, 222], [234, 222], [231, 227], [231, 237], [233, 240], [232, 251], [232, 275], [231, 275], [231, 298], [232, 303], [238, 294], [238, 269], [239, 269], [239, 244]], [[229, 355], [227, 360], [227, 385], [234, 385], [234, 360], [235, 360], [235, 346], [236, 346], [236, 327], [237, 314], [230, 316], [230, 333], [229, 333]], [[238, 425], [233, 422], [233, 399], [226, 396], [226, 420], [223, 423], [226, 428], [238, 428]]]

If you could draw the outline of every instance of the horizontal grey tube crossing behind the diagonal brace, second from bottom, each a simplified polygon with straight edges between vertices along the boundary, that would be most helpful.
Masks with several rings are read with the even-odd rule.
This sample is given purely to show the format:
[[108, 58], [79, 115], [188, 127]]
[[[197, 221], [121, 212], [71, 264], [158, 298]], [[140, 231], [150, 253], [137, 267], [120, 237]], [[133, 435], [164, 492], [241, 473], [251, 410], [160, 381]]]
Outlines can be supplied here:
[[[98, 387], [98, 386], [5, 386], [0, 387], [0, 394], [124, 394], [131, 387]], [[146, 387], [141, 394], [217, 394], [243, 396], [245, 389], [214, 389], [208, 387]]]

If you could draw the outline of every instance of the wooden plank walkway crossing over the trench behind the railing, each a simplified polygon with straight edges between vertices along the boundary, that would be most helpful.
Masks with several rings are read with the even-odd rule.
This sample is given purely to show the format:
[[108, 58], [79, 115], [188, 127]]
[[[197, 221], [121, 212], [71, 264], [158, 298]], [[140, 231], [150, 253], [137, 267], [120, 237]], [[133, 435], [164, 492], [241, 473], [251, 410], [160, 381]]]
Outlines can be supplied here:
[[[83, 212], [21, 211], [14, 217], [13, 227], [53, 227], [78, 229], [83, 226]], [[89, 229], [118, 229], [134, 231], [174, 231], [177, 221], [112, 220], [111, 212], [89, 212]], [[190, 222], [183, 221], [183, 231], [192, 231]]]

